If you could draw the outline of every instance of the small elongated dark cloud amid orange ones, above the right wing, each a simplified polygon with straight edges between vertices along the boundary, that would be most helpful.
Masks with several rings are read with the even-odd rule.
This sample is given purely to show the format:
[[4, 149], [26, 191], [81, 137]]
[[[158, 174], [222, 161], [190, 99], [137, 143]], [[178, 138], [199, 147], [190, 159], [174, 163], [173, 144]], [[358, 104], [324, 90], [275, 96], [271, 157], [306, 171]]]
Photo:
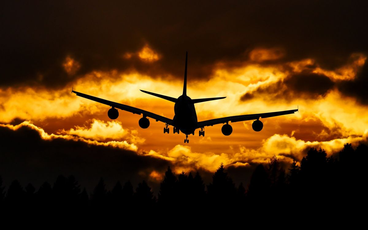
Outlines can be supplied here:
[[253, 92], [247, 92], [241, 96], [240, 100], [250, 100], [262, 94], [283, 99], [292, 98], [295, 95], [314, 99], [319, 96], [325, 96], [334, 86], [335, 83], [323, 74], [315, 74], [312, 72], [294, 73], [290, 74], [284, 80], [280, 80], [271, 85], [260, 86]]

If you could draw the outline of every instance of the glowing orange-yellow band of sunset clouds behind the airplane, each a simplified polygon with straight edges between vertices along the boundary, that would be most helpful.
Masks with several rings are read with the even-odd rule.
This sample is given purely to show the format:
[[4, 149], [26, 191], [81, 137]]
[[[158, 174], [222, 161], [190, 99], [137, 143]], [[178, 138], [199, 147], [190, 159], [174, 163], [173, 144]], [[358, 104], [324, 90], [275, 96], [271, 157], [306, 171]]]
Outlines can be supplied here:
[[[358, 69], [364, 63], [364, 58], [354, 56], [353, 61], [346, 66]], [[312, 59], [287, 65], [294, 71], [316, 66]], [[188, 95], [191, 98], [227, 96], [223, 100], [196, 104], [199, 121], [222, 116], [288, 110], [299, 105], [299, 113], [262, 119], [264, 129], [257, 133], [252, 131], [252, 121], [230, 123], [234, 128], [230, 137], [222, 135], [221, 125], [215, 125], [206, 127], [206, 137], [198, 137], [197, 131], [197, 136], [190, 136], [190, 145], [178, 145], [183, 142], [183, 135], [163, 134], [164, 124], [160, 122], [151, 121], [150, 127], [142, 130], [138, 126], [139, 116], [121, 111], [116, 121], [105, 121], [108, 119], [108, 106], [70, 93], [71, 86], [74, 86], [76, 91], [139, 107], [169, 118], [174, 116], [173, 103], [142, 93], [139, 89], [177, 97], [183, 87], [181, 79], [157, 80], [138, 72], [117, 71], [94, 71], [61, 89], [0, 89], [0, 121], [10, 123], [14, 118], [27, 120], [20, 125], [2, 126], [14, 130], [26, 125], [37, 130], [44, 139], [66, 138], [93, 145], [115, 146], [133, 150], [139, 155], [169, 160], [174, 164], [176, 173], [196, 169], [214, 171], [220, 163], [244, 167], [247, 163], [268, 162], [274, 154], [280, 160], [291, 162], [291, 156], [301, 159], [305, 146], [321, 146], [330, 154], [342, 148], [345, 142], [357, 143], [366, 140], [367, 107], [353, 98], [344, 97], [337, 90], [330, 90], [324, 97], [313, 100], [298, 98], [298, 95], [288, 99], [276, 99], [267, 92], [246, 103], [239, 100], [245, 92], [252, 92], [259, 87], [273, 85], [285, 79], [290, 68], [282, 67], [244, 64], [236, 68], [218, 68], [210, 79], [192, 81], [188, 78]], [[49, 128], [48, 132], [51, 134], [48, 134], [42, 125], [48, 124], [50, 119], [63, 119], [63, 122], [54, 126], [50, 124], [52, 128]], [[85, 120], [88, 120], [87, 123]], [[308, 127], [314, 120], [321, 123], [319, 128], [322, 126], [322, 129], [316, 131], [314, 127]], [[34, 125], [36, 123], [41, 125]], [[71, 125], [65, 127], [65, 123]], [[298, 129], [298, 123], [306, 125]], [[338, 135], [332, 137], [332, 131], [329, 129]], [[308, 132], [308, 138], [305, 134], [303, 136], [302, 132]], [[320, 141], [313, 138], [319, 138]], [[154, 174], [152, 177], [155, 177]]]

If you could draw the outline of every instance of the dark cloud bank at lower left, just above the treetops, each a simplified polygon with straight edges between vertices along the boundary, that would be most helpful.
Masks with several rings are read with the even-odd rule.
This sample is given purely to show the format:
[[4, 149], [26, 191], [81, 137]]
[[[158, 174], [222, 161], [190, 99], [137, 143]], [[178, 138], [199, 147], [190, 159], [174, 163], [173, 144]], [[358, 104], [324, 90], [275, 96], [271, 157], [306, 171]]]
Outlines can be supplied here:
[[[36, 188], [44, 181], [53, 183], [59, 174], [74, 175], [92, 191], [100, 177], [110, 189], [118, 180], [131, 180], [134, 185], [152, 170], [164, 172], [169, 162], [140, 156], [118, 148], [88, 145], [81, 141], [57, 138], [43, 140], [37, 131], [21, 127], [17, 131], [0, 127], [0, 175], [5, 181], [18, 179]], [[157, 189], [158, 182], [150, 185]]]

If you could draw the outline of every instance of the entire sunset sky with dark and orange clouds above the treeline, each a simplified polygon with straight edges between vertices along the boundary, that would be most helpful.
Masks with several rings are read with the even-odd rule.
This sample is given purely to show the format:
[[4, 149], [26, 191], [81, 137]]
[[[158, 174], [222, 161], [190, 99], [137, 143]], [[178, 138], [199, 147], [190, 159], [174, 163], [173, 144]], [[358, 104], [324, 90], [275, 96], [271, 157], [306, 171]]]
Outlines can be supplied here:
[[[346, 142], [367, 141], [367, 3], [2, 5], [3, 177], [41, 183], [69, 173], [96, 183], [103, 176], [157, 184], [167, 166], [210, 175], [224, 163], [235, 181], [247, 182], [251, 169], [273, 155], [287, 167], [310, 147], [332, 155]], [[163, 134], [161, 122], [151, 120], [141, 129], [139, 115], [121, 110], [110, 120], [108, 106], [71, 93], [73, 87], [173, 118], [172, 102], [139, 89], [180, 96], [186, 51], [188, 96], [226, 96], [195, 104], [198, 121], [297, 107], [299, 112], [261, 119], [260, 132], [252, 130], [252, 121], [231, 124], [230, 136], [222, 134], [221, 124], [206, 127], [205, 137], [197, 130], [184, 144], [184, 134], [173, 134], [172, 127]]]

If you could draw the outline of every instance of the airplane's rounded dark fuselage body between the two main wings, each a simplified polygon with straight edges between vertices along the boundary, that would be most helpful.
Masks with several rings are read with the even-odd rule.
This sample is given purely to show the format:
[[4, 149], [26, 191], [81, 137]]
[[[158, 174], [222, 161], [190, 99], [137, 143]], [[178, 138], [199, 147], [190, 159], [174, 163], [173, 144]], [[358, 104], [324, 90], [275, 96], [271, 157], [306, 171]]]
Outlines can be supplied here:
[[187, 102], [190, 99], [186, 95], [181, 95], [174, 105], [173, 126], [179, 128], [184, 134], [194, 133], [198, 123], [194, 104]]

